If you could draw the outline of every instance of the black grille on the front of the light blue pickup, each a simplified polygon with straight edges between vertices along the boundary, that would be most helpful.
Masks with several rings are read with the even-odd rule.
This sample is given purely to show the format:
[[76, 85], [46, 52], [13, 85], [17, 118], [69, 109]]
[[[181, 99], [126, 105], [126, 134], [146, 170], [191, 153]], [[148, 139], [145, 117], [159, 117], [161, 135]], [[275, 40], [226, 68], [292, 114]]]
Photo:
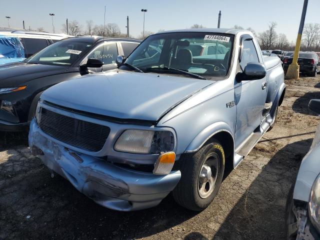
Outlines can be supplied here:
[[108, 126], [65, 116], [46, 108], [40, 109], [38, 126], [46, 134], [89, 151], [99, 151], [110, 133]]

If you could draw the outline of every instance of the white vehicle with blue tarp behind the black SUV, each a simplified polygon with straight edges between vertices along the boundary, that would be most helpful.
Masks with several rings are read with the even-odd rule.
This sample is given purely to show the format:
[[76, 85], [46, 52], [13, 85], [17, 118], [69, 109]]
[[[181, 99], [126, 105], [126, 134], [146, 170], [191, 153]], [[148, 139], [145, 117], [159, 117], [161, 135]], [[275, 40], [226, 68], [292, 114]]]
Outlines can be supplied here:
[[0, 28], [0, 64], [22, 61], [44, 47], [66, 37], [70, 36], [41, 31]]

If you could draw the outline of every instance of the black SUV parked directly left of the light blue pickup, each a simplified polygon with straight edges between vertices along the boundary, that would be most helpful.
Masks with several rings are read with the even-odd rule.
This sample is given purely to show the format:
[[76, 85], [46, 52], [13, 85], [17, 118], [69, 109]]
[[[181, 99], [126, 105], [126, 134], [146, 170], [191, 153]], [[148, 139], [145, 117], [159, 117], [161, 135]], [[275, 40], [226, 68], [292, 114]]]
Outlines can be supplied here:
[[75, 76], [114, 69], [116, 56], [129, 55], [139, 42], [130, 38], [71, 37], [22, 62], [0, 65], [0, 130], [27, 129], [46, 88]]

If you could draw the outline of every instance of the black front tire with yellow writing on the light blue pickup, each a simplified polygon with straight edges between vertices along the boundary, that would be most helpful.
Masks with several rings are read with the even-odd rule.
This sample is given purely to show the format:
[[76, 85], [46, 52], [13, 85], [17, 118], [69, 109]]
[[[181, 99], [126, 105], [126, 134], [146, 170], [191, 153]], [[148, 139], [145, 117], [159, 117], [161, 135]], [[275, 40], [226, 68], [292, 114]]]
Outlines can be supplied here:
[[[217, 170], [212, 171], [215, 175], [214, 185], [209, 195], [202, 198], [199, 195], [199, 173], [202, 165], [214, 158], [217, 162]], [[179, 159], [179, 169], [181, 171], [181, 179], [173, 189], [172, 195], [175, 201], [181, 206], [190, 210], [200, 211], [206, 208], [215, 197], [223, 177], [224, 171], [224, 151], [219, 141], [212, 139], [203, 145], [196, 153], [184, 154]], [[213, 168], [212, 168], [213, 169]], [[214, 168], [215, 169], [215, 168]], [[204, 183], [206, 184], [206, 183]]]

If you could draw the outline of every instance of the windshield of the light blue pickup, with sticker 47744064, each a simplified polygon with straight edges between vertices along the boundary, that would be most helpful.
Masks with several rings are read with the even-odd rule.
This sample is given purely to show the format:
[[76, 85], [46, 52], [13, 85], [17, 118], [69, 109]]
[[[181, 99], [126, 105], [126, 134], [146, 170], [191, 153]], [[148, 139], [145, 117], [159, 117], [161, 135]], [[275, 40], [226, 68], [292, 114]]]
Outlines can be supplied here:
[[[168, 73], [179, 69], [206, 79], [225, 76], [230, 65], [233, 38], [230, 34], [212, 32], [151, 35], [129, 55], [125, 63], [144, 72]], [[181, 71], [169, 73], [181, 74]]]

